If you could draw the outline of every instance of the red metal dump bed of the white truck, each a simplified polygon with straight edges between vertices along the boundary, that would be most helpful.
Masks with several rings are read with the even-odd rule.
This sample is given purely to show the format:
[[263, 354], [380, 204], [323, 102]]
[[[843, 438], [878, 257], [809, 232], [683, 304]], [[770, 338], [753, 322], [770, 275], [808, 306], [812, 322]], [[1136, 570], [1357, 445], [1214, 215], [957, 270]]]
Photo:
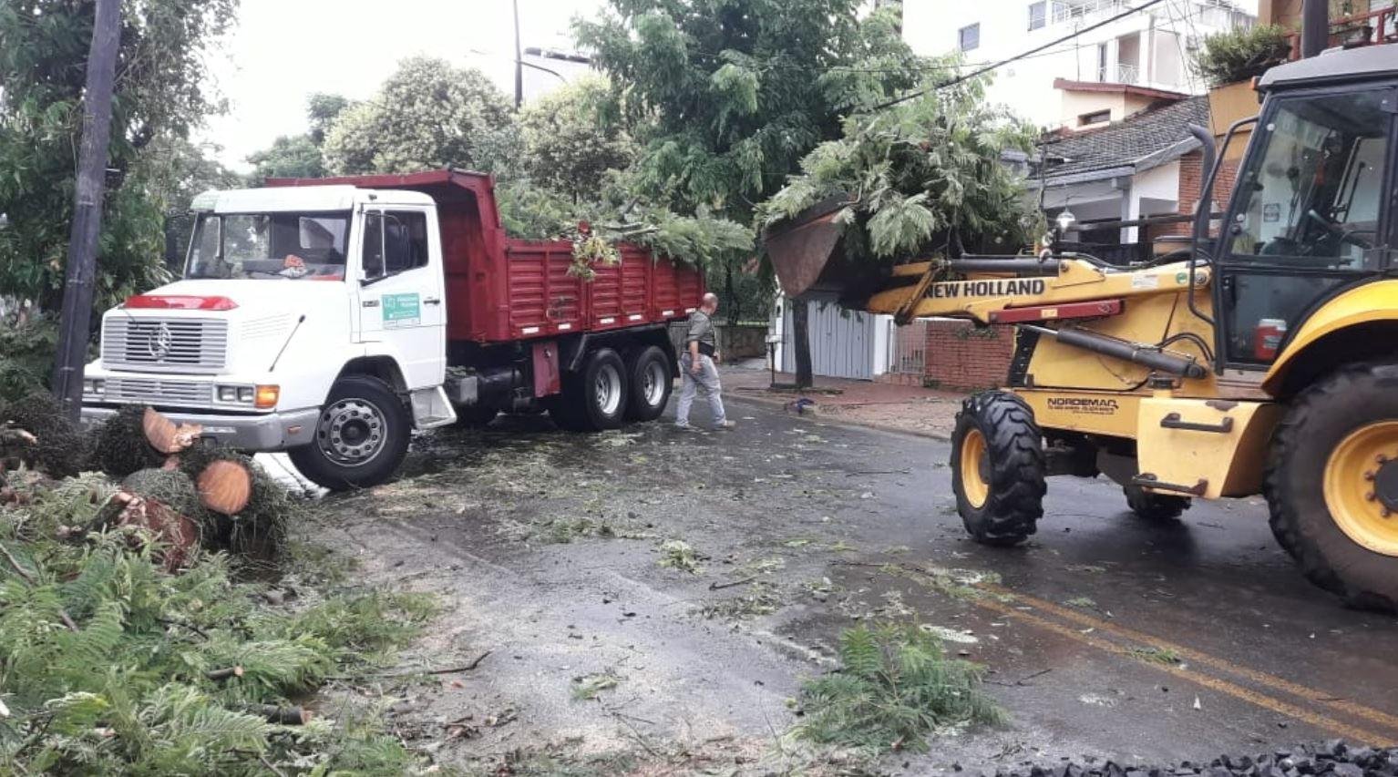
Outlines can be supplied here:
[[484, 173], [431, 170], [267, 184], [350, 184], [431, 196], [442, 225], [449, 340], [502, 342], [665, 323], [688, 316], [705, 292], [696, 268], [653, 259], [636, 246], [622, 246], [621, 264], [596, 266], [591, 281], [569, 275], [572, 243], [505, 235], [495, 182]]

